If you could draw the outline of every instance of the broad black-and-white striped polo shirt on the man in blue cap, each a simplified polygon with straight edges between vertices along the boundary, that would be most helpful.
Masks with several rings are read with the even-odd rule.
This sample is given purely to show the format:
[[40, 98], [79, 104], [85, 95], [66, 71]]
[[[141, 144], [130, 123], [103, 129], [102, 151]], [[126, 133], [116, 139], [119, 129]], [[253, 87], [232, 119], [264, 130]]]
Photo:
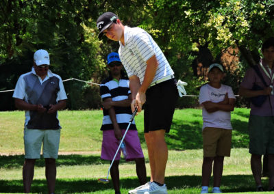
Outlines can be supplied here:
[[[107, 98], [112, 98], [113, 101], [126, 100], [131, 94], [129, 89], [129, 79], [123, 73], [121, 74], [121, 79], [119, 81], [112, 78], [112, 76], [105, 79], [100, 84], [100, 95], [102, 100]], [[116, 113], [116, 120], [121, 129], [126, 129], [129, 120], [132, 117], [131, 107], [114, 107]], [[113, 130], [112, 120], [108, 110], [103, 109], [103, 123], [101, 130]], [[131, 130], [136, 130], [135, 121], [132, 122], [129, 127]]]

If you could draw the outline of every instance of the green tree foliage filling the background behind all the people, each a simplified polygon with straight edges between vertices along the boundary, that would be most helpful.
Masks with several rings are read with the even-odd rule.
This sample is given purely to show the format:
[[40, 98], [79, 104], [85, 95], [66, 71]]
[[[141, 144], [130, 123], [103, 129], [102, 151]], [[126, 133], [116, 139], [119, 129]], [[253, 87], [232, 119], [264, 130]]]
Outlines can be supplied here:
[[[107, 76], [108, 53], [119, 48], [118, 42], [97, 38], [97, 17], [107, 11], [115, 12], [124, 25], [151, 33], [175, 77], [188, 83], [188, 94], [199, 94], [203, 84], [192, 65], [201, 48], [209, 48], [219, 61], [227, 48], [238, 47], [239, 55], [250, 65], [262, 42], [274, 34], [272, 0], [2, 0], [0, 10], [0, 89], [14, 88], [19, 75], [31, 69], [33, 53], [39, 48], [49, 51], [51, 70], [62, 79], [100, 83]], [[210, 57], [204, 60], [211, 62]], [[242, 77], [244, 69], [238, 66], [236, 74]], [[236, 74], [227, 76], [235, 91]], [[96, 87], [73, 83], [66, 89], [70, 109], [100, 106]], [[11, 95], [0, 95], [0, 109], [14, 109]], [[181, 98], [178, 107], [196, 104], [194, 98], [187, 102]]]

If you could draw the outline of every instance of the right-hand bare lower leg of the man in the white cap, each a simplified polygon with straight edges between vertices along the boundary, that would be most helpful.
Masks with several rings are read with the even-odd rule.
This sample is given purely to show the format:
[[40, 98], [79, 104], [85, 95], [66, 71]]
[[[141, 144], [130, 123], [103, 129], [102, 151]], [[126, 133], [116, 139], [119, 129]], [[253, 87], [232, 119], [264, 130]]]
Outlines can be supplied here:
[[54, 158], [45, 158], [46, 178], [49, 193], [54, 193], [56, 180], [56, 163]]

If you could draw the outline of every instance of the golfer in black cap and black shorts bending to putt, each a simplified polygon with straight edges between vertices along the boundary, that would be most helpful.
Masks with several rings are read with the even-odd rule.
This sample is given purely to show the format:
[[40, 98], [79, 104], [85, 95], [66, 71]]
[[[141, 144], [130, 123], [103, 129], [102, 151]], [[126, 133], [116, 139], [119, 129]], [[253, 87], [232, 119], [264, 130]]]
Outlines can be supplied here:
[[99, 38], [105, 35], [119, 41], [119, 57], [129, 77], [132, 91], [132, 111], [145, 104], [145, 140], [149, 153], [151, 180], [129, 193], [167, 193], [164, 172], [168, 149], [164, 140], [169, 133], [178, 98], [174, 72], [156, 44], [145, 30], [127, 27], [112, 12], [97, 19]]

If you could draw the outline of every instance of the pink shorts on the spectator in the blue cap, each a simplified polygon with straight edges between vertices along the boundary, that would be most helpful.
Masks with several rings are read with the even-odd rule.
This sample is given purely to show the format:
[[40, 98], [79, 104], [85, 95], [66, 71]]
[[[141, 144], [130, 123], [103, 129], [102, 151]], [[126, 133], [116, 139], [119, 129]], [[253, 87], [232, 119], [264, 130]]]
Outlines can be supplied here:
[[[125, 130], [121, 130], [121, 133], [124, 135]], [[144, 158], [137, 130], [127, 130], [124, 142], [127, 151], [126, 161], [134, 161], [135, 158]], [[112, 161], [118, 146], [119, 140], [116, 139], [114, 130], [103, 130], [101, 158], [106, 161]], [[119, 161], [120, 158], [121, 152], [118, 152], [115, 161]]]

